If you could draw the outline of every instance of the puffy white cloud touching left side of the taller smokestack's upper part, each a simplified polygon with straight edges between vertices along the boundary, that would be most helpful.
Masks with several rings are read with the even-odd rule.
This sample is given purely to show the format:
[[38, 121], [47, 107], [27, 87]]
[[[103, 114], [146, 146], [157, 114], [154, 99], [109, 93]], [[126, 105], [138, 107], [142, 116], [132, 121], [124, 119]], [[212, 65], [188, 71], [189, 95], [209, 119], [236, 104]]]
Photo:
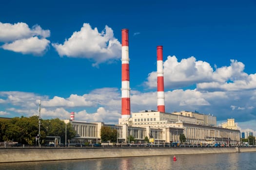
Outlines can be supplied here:
[[52, 46], [60, 56], [92, 59], [96, 66], [121, 57], [121, 44], [108, 26], [99, 33], [97, 28], [84, 23], [80, 31], [74, 32], [63, 44], [52, 43]]

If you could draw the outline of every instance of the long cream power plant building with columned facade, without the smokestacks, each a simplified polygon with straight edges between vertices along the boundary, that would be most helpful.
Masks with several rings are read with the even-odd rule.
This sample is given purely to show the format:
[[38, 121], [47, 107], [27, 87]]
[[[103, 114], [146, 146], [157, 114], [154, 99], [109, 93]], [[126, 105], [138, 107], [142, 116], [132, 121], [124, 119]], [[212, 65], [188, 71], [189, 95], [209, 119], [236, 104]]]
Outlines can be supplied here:
[[[69, 121], [69, 120], [67, 120]], [[154, 138], [157, 143], [179, 142], [179, 136], [184, 134], [186, 143], [190, 144], [238, 144], [240, 131], [226, 129], [216, 125], [216, 117], [194, 112], [175, 112], [175, 114], [146, 110], [132, 113], [131, 118], [120, 118], [118, 125], [107, 125], [102, 122], [70, 121], [77, 135], [73, 139], [82, 142], [101, 142], [100, 129], [109, 126], [118, 130], [118, 143], [129, 143], [133, 136], [138, 143], [143, 143], [145, 137]]]

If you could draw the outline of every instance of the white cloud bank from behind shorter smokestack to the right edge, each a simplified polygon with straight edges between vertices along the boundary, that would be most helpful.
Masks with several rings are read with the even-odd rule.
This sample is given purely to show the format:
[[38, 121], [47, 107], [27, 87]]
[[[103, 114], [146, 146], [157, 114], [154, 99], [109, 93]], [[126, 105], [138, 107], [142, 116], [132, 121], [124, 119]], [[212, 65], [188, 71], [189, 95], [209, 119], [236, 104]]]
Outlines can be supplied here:
[[[176, 56], [168, 56], [164, 62], [164, 86], [181, 88], [197, 85], [199, 91], [238, 91], [256, 89], [256, 74], [244, 72], [244, 64], [230, 60], [230, 66], [214, 69], [209, 63], [196, 61], [195, 57], [177, 61]], [[157, 72], [151, 72], [145, 84], [157, 87]]]

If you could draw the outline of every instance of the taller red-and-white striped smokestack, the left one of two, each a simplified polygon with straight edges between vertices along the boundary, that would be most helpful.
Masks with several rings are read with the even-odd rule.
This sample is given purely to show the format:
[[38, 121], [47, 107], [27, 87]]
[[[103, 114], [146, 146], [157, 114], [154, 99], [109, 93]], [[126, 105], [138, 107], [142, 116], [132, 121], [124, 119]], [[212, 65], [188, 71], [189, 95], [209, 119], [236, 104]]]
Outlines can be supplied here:
[[122, 118], [131, 117], [128, 29], [122, 29]]

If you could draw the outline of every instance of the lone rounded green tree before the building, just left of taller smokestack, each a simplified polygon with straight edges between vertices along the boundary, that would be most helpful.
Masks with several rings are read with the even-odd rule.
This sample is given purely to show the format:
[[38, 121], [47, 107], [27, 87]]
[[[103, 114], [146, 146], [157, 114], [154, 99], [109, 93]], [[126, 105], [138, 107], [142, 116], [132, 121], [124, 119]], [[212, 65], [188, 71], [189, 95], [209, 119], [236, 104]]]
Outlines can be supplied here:
[[103, 126], [100, 129], [100, 137], [103, 142], [108, 140], [115, 142], [117, 141], [117, 129], [111, 129], [110, 127]]

